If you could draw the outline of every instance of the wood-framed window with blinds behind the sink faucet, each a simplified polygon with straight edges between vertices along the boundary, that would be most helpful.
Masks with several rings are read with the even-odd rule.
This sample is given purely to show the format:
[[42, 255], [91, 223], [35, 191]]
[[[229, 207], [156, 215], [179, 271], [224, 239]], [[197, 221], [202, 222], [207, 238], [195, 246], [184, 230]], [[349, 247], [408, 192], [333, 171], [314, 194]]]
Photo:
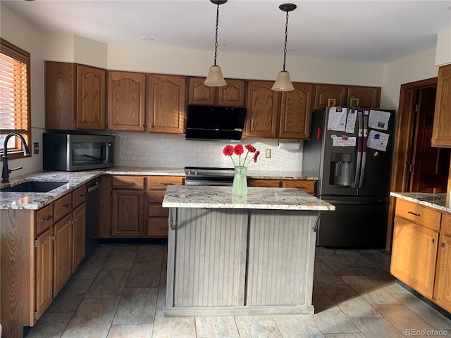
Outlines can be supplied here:
[[[7, 134], [21, 134], [28, 145], [30, 121], [30, 53], [0, 39], [0, 151]], [[22, 142], [8, 141], [8, 158], [23, 157]]]

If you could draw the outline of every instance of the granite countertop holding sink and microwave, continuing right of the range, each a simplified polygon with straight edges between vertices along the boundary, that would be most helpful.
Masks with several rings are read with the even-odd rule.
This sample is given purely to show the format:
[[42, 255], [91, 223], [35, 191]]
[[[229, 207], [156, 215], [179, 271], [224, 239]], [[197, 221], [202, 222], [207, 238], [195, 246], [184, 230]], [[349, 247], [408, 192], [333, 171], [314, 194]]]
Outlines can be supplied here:
[[[162, 176], [185, 176], [183, 168], [148, 168], [148, 167], [113, 167], [99, 170], [86, 171], [42, 171], [14, 177], [10, 183], [0, 184], [0, 188], [10, 187], [27, 181], [53, 181], [68, 182], [51, 192], [0, 192], [0, 209], [39, 209], [51, 203], [68, 192], [81, 187], [90, 180], [104, 174], [109, 175], [162, 175]], [[250, 173], [252, 178], [271, 178], [284, 180], [317, 180], [318, 177], [300, 172], [277, 171], [277, 172], [255, 172]]]

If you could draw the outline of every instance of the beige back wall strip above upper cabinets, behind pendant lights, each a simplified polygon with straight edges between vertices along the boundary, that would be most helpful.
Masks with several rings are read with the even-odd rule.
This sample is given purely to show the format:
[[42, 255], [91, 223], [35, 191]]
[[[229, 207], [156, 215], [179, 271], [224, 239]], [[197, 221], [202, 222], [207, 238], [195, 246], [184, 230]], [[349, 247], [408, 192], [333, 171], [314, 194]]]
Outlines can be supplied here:
[[[213, 63], [211, 51], [161, 49], [149, 46], [109, 44], [108, 69], [134, 70], [149, 73], [206, 76]], [[230, 54], [219, 51], [218, 65], [224, 77], [254, 80], [275, 80], [281, 70], [283, 56]], [[292, 81], [326, 82], [381, 86], [383, 65], [351, 63], [307, 58], [287, 58], [287, 70]]]

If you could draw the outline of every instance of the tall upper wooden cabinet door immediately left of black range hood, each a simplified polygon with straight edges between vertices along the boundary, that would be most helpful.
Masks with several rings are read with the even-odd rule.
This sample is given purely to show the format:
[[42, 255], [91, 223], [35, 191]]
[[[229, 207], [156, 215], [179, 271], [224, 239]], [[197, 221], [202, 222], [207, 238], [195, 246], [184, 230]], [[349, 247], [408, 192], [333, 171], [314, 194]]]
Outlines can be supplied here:
[[183, 134], [185, 82], [184, 76], [150, 76], [149, 132]]

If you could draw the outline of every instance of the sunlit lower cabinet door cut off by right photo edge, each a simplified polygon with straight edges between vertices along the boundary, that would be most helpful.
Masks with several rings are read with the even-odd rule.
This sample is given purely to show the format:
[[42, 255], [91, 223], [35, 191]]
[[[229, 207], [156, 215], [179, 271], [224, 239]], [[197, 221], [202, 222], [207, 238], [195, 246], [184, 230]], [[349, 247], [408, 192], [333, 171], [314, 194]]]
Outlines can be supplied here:
[[451, 237], [440, 237], [439, 258], [435, 274], [435, 301], [451, 312]]

